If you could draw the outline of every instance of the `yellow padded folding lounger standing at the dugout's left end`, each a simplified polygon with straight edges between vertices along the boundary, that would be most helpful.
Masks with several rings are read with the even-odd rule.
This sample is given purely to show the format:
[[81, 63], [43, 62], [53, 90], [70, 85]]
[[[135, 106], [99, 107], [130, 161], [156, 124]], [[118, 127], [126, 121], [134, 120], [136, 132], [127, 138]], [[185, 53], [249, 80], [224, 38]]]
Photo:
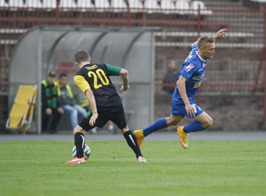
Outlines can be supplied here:
[[19, 86], [7, 119], [7, 129], [25, 131], [30, 127], [36, 95], [37, 85]]

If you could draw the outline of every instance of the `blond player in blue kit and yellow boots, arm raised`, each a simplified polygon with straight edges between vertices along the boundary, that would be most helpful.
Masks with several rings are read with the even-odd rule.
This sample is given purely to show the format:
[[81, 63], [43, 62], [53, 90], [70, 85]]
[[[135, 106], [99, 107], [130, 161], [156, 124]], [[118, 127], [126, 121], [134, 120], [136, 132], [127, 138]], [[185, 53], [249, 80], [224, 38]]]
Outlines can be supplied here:
[[161, 118], [143, 130], [134, 131], [139, 147], [144, 138], [160, 129], [175, 126], [187, 116], [195, 121], [177, 128], [179, 142], [188, 148], [188, 133], [202, 131], [212, 126], [213, 120], [195, 104], [195, 94], [202, 82], [206, 69], [206, 60], [214, 55], [215, 39], [225, 36], [227, 29], [219, 30], [214, 36], [202, 36], [192, 44], [192, 50], [181, 65], [175, 91], [172, 95], [172, 113], [170, 117]]

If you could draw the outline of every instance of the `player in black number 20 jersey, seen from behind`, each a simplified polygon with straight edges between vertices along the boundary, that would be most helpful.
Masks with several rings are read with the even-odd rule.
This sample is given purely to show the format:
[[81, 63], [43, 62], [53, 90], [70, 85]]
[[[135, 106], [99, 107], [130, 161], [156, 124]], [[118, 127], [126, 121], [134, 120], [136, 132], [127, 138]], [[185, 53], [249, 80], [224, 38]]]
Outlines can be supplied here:
[[78, 50], [75, 54], [75, 63], [80, 70], [74, 76], [76, 85], [86, 94], [91, 110], [73, 130], [76, 158], [66, 164], [85, 163], [83, 148], [84, 134], [93, 127], [102, 128], [109, 120], [117, 125], [124, 135], [128, 146], [135, 152], [139, 163], [148, 163], [141, 155], [134, 134], [126, 124], [124, 108], [109, 76], [121, 75], [123, 86], [121, 91], [128, 90], [128, 73], [126, 69], [103, 64], [91, 64], [91, 58], [86, 50]]

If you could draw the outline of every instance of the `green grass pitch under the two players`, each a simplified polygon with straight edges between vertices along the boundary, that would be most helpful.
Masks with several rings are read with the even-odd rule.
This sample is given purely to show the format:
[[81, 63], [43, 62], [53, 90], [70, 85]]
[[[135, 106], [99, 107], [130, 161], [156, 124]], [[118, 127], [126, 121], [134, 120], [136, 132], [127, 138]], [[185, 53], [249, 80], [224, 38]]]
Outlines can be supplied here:
[[139, 164], [125, 141], [87, 141], [85, 164], [73, 141], [0, 142], [0, 195], [266, 195], [265, 141], [145, 141]]

